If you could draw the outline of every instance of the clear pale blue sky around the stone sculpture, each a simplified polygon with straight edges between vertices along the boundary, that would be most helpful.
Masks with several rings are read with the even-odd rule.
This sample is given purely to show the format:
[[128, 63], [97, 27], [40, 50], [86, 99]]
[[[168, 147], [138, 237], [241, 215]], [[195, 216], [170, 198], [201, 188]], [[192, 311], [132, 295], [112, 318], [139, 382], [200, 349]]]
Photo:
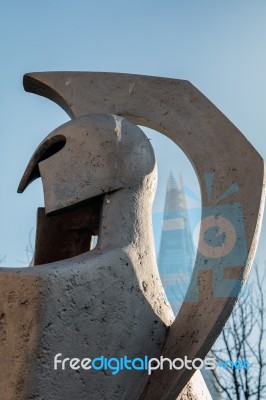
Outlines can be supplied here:
[[[43, 205], [40, 180], [16, 194], [27, 162], [41, 140], [69, 119], [56, 104], [24, 92], [26, 72], [113, 71], [189, 80], [266, 158], [265, 0], [1, 0], [0, 57], [4, 266], [24, 265], [36, 208]], [[198, 184], [182, 152], [145, 131], [159, 164], [160, 212], [170, 170], [176, 177], [182, 173], [196, 194]], [[265, 238], [264, 223], [261, 260]]]

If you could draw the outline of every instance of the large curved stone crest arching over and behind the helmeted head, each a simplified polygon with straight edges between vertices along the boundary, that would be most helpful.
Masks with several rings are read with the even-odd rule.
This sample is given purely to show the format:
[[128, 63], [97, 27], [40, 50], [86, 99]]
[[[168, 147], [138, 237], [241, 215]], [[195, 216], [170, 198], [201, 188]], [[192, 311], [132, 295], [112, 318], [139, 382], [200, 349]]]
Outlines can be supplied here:
[[[71, 118], [117, 114], [172, 139], [195, 168], [202, 207], [210, 205], [205, 190], [206, 173], [215, 174], [211, 205], [233, 182], [237, 183], [239, 190], [220, 203], [239, 203], [245, 226], [242, 235], [247, 246], [246, 261], [234, 268], [224, 268], [224, 281], [236, 282], [232, 295], [216, 297], [212, 271], [194, 268], [192, 281], [198, 282], [198, 300], [183, 303], [162, 353], [170, 359], [204, 358], [233, 310], [240, 291], [239, 282], [246, 281], [252, 266], [265, 198], [262, 158], [242, 133], [188, 81], [120, 73], [39, 72], [26, 74], [24, 87], [53, 100]], [[192, 285], [188, 294], [191, 290], [194, 290]], [[142, 399], [176, 399], [193, 372], [184, 368], [155, 371]]]

